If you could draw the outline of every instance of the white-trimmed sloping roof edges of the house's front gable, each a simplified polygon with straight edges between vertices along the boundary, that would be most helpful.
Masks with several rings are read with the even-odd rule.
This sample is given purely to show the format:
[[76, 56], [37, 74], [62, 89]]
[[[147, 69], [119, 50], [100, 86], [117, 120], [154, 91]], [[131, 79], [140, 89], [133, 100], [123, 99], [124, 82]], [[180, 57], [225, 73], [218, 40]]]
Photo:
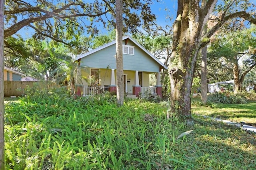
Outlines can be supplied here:
[[[123, 37], [123, 41], [125, 39], [130, 39], [134, 44], [136, 44], [138, 47], [140, 47], [140, 49], [142, 49], [146, 54], [148, 54], [152, 59], [154, 59], [158, 64], [160, 64], [161, 66], [163, 66], [165, 69], [168, 69], [168, 67], [166, 65], [164, 65], [160, 60], [158, 60], [154, 55], [152, 55], [148, 50], [146, 50], [144, 47], [142, 47], [142, 45], [140, 45], [137, 41], [135, 41], [134, 39], [132, 39], [132, 37], [130, 37], [130, 35], [124, 36]], [[116, 41], [112, 41], [111, 43], [102, 45], [101, 47], [98, 47], [96, 49], [93, 49], [92, 51], [89, 51], [87, 53], [84, 53], [82, 55], [79, 55], [75, 58], [75, 61], [77, 61], [78, 59], [82, 59], [92, 53], [95, 53], [97, 51], [100, 51], [106, 47], [109, 47], [110, 45], [114, 45], [116, 43]]]

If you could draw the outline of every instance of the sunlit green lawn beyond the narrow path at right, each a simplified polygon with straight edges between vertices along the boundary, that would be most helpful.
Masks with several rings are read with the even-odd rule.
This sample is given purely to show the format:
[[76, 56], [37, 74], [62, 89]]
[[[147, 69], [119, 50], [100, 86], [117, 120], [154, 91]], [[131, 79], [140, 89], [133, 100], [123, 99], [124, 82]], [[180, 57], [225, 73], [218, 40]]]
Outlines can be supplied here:
[[[193, 100], [198, 100], [192, 98]], [[218, 117], [230, 121], [244, 121], [256, 125], [256, 102], [247, 104], [214, 104], [215, 108], [204, 106], [191, 106], [192, 112], [199, 115]]]

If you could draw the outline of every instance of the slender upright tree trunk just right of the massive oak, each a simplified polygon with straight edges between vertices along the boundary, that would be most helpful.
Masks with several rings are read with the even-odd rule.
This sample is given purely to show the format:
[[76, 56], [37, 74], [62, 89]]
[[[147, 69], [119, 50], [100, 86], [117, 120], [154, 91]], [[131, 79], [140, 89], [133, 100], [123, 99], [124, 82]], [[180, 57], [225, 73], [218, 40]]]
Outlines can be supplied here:
[[[206, 0], [202, 0], [202, 9], [204, 9]], [[207, 32], [207, 24], [204, 27], [203, 34]], [[201, 59], [201, 100], [202, 103], [207, 102], [207, 46], [202, 48]]]

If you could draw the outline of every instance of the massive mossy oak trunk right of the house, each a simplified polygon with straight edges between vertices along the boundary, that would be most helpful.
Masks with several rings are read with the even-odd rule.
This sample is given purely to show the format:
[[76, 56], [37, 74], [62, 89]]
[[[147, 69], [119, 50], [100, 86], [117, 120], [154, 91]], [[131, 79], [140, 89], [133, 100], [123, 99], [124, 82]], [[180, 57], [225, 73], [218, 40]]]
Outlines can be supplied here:
[[173, 46], [169, 64], [171, 110], [192, 124], [190, 94], [196, 59], [204, 42], [200, 42], [216, 0], [203, 10], [199, 1], [178, 0], [177, 17], [173, 24]]

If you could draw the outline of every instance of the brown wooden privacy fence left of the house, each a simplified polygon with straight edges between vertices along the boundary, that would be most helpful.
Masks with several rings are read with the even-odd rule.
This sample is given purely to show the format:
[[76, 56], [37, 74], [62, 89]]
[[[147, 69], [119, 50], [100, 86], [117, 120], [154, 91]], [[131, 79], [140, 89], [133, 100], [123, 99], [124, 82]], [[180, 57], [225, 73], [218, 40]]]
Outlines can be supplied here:
[[48, 82], [26, 82], [26, 81], [4, 81], [4, 97], [23, 96], [26, 88], [36, 86], [39, 89], [49, 88], [52, 83]]

